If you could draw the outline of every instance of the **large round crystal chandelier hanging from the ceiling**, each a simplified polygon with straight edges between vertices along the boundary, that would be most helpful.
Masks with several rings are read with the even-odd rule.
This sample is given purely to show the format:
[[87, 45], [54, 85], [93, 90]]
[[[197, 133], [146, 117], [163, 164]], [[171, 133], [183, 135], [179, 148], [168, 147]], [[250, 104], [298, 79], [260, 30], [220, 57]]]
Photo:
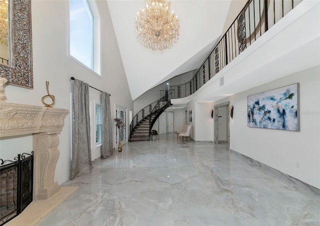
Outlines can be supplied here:
[[169, 1], [145, 0], [144, 9], [135, 17], [135, 33], [148, 49], [162, 51], [172, 47], [179, 36], [179, 19], [170, 13]]

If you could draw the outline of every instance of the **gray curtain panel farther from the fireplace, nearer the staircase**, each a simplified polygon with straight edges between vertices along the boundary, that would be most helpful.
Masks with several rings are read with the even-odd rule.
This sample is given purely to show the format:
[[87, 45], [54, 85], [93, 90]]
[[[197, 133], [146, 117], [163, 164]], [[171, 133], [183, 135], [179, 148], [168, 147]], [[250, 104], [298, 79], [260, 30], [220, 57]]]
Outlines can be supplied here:
[[102, 128], [101, 128], [101, 158], [105, 159], [112, 155], [112, 120], [110, 108], [110, 95], [102, 92], [101, 94], [101, 113], [102, 113]]

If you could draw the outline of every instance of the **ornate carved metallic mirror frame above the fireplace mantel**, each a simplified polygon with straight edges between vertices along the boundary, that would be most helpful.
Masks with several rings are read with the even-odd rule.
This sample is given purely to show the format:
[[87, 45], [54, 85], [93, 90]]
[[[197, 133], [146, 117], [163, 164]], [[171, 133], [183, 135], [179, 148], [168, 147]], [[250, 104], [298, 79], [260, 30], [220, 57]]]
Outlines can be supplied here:
[[4, 8], [2, 4], [7, 7], [8, 31], [8, 54], [7, 59], [0, 61], [0, 77], [6, 78], [7, 84], [32, 89], [31, 1], [0, 0], [0, 4], [0, 9]]

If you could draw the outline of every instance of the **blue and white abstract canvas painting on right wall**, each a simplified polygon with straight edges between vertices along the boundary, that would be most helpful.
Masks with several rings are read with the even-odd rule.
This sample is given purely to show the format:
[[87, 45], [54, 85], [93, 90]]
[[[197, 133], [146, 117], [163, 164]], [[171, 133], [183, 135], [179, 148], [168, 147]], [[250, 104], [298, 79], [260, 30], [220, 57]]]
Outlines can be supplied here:
[[299, 131], [298, 83], [247, 97], [248, 127]]

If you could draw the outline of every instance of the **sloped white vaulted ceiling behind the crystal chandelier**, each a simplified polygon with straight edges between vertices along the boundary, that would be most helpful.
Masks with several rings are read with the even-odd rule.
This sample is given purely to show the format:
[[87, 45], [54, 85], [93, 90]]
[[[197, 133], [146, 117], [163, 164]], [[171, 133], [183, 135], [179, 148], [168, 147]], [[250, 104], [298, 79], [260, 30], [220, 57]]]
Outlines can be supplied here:
[[107, 0], [132, 99], [150, 88], [200, 67], [221, 35], [230, 0], [172, 0], [179, 40], [171, 49], [152, 51], [138, 43], [135, 15], [144, 1]]

